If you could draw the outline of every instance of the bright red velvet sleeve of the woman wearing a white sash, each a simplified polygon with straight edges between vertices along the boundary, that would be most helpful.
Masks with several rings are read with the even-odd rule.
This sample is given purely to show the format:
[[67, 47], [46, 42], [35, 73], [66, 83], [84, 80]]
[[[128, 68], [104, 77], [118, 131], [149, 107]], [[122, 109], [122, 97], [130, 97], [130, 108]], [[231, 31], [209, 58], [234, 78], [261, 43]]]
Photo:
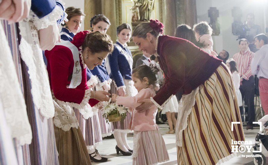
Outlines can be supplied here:
[[55, 98], [60, 101], [73, 102], [80, 104], [84, 98], [85, 90], [76, 88], [67, 88], [70, 68], [73, 69], [73, 55], [70, 49], [64, 46], [58, 46], [58, 49], [51, 50], [46, 55], [48, 66], [50, 67], [50, 83]]

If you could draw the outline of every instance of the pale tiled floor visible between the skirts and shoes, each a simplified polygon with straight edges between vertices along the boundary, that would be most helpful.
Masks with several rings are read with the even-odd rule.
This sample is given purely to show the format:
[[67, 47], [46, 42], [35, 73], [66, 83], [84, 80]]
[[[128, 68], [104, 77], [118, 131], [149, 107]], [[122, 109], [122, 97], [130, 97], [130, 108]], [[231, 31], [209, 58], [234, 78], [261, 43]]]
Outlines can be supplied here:
[[[176, 144], [175, 144], [175, 134], [165, 134], [165, 132], [168, 131], [168, 126], [167, 124], [164, 125], [159, 125], [160, 127], [160, 132], [165, 140], [170, 161], [161, 163], [165, 165], [174, 165], [177, 164], [177, 153], [176, 153]], [[254, 128], [254, 130], [246, 130], [244, 127], [244, 133], [245, 133], [245, 138], [246, 140], [251, 140], [252, 143], [254, 144], [254, 138], [257, 135], [258, 128]], [[129, 135], [127, 138], [129, 146], [133, 147], [133, 135]], [[108, 161], [105, 163], [95, 163], [92, 162], [92, 164], [100, 164], [100, 165], [131, 165], [132, 164], [132, 156], [123, 156], [123, 155], [117, 155], [115, 151], [115, 146], [116, 142], [114, 139], [108, 139], [108, 140], [103, 140], [102, 141], [103, 145], [97, 146], [97, 149], [101, 155], [104, 155], [106, 158], [108, 158]], [[262, 153], [266, 156], [266, 160], [268, 161], [268, 152], [266, 149], [263, 147]], [[241, 156], [232, 158], [228, 162], [224, 163], [225, 165], [251, 165], [253, 163], [253, 158], [242, 158]]]

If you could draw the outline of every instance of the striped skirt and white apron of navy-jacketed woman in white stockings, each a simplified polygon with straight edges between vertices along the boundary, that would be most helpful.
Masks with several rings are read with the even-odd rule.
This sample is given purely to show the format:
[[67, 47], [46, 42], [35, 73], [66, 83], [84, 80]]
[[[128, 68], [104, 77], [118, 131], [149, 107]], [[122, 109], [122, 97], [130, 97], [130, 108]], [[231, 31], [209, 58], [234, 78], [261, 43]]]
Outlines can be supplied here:
[[[138, 91], [136, 90], [136, 88], [134, 88], [134, 86], [132, 86], [129, 83], [130, 80], [124, 79], [124, 82], [125, 82], [125, 85], [126, 85], [126, 96], [135, 96], [138, 93]], [[114, 81], [111, 83], [110, 93], [118, 95], [118, 91], [117, 91], [117, 88], [116, 88], [116, 85], [115, 85]], [[126, 118], [124, 120], [122, 119], [119, 122], [112, 122], [113, 126], [114, 126], [114, 130], [117, 130], [117, 131], [120, 131], [120, 132], [126, 132], [126, 133], [133, 132], [133, 131], [128, 129], [130, 119], [131, 119], [131, 113], [126, 113]]]

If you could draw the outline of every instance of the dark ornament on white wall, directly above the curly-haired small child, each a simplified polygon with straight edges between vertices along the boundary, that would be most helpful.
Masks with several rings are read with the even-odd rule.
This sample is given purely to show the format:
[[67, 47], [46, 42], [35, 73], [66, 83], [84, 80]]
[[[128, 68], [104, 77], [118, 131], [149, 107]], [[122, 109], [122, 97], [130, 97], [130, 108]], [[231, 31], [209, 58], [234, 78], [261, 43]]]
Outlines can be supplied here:
[[218, 22], [219, 10], [217, 10], [217, 7], [210, 7], [210, 9], [208, 10], [208, 17], [210, 17], [209, 25], [213, 29], [212, 35], [219, 35], [220, 24]]

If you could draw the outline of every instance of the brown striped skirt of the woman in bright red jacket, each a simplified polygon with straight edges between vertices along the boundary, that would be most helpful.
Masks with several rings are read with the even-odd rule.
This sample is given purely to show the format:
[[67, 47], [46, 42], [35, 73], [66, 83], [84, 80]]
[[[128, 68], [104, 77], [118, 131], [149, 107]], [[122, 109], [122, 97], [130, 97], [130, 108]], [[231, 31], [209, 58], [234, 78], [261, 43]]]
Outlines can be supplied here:
[[91, 164], [86, 144], [79, 127], [78, 129], [71, 128], [69, 131], [63, 131], [61, 128], [54, 125], [54, 132], [60, 164]]

